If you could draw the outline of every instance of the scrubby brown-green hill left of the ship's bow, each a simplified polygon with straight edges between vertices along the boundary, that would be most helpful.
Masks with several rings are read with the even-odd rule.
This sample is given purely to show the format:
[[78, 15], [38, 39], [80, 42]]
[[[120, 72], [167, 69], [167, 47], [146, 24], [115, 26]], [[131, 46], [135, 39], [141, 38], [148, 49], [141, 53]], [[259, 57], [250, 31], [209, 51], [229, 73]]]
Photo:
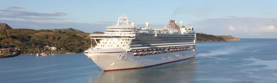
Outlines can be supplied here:
[[90, 47], [89, 33], [73, 28], [32, 30], [7, 27], [0, 32], [0, 45], [2, 47], [4, 46], [5, 48], [5, 46], [8, 47], [10, 45], [11, 47], [23, 49], [22, 52], [37, 53], [39, 48], [46, 45], [52, 47], [55, 44], [59, 48], [59, 53], [83, 52]]

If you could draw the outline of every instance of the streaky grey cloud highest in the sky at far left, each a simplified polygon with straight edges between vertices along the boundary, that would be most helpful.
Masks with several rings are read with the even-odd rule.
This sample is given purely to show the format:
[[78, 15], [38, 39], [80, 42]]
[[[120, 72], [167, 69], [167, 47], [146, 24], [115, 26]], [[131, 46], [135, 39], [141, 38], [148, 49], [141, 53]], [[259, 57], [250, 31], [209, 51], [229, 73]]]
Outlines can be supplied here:
[[[34, 20], [64, 20], [65, 18], [57, 18], [66, 16], [66, 13], [63, 12], [34, 12], [34, 11], [24, 11], [24, 10], [14, 10], [14, 9], [23, 9], [21, 7], [12, 6], [5, 10], [0, 10], [0, 18], [20, 18], [20, 19], [34, 19]], [[55, 18], [54, 18], [55, 17]]]

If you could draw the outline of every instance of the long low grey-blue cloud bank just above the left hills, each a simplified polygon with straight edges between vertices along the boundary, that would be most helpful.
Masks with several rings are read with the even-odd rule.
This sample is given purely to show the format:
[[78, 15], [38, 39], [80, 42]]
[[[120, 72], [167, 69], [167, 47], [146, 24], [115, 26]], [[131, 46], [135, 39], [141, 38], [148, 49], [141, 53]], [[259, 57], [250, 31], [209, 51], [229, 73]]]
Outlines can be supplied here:
[[[7, 23], [12, 28], [25, 28], [25, 29], [62, 29], [74, 28], [86, 33], [95, 31], [105, 31], [106, 24], [100, 23], [76, 23], [76, 22], [49, 22], [49, 21], [32, 21], [32, 20], [3, 20], [0, 23]], [[100, 28], [99, 28], [100, 27]], [[102, 28], [101, 28], [102, 27]]]

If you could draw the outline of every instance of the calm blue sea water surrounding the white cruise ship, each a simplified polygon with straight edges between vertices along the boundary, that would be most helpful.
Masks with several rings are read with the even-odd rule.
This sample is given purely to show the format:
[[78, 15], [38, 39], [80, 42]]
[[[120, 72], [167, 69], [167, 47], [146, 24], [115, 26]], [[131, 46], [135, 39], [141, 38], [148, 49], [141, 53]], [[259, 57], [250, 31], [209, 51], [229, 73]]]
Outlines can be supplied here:
[[0, 83], [276, 83], [277, 39], [198, 42], [196, 57], [103, 72], [83, 53], [0, 59]]

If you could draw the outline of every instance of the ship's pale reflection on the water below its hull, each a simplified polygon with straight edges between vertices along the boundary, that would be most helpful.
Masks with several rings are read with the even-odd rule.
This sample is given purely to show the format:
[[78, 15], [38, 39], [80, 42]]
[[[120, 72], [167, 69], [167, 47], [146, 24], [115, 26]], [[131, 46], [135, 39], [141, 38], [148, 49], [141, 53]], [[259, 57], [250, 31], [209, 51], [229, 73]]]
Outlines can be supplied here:
[[88, 83], [192, 82], [195, 79], [195, 61], [191, 58], [142, 69], [101, 72], [98, 77], [90, 77]]

